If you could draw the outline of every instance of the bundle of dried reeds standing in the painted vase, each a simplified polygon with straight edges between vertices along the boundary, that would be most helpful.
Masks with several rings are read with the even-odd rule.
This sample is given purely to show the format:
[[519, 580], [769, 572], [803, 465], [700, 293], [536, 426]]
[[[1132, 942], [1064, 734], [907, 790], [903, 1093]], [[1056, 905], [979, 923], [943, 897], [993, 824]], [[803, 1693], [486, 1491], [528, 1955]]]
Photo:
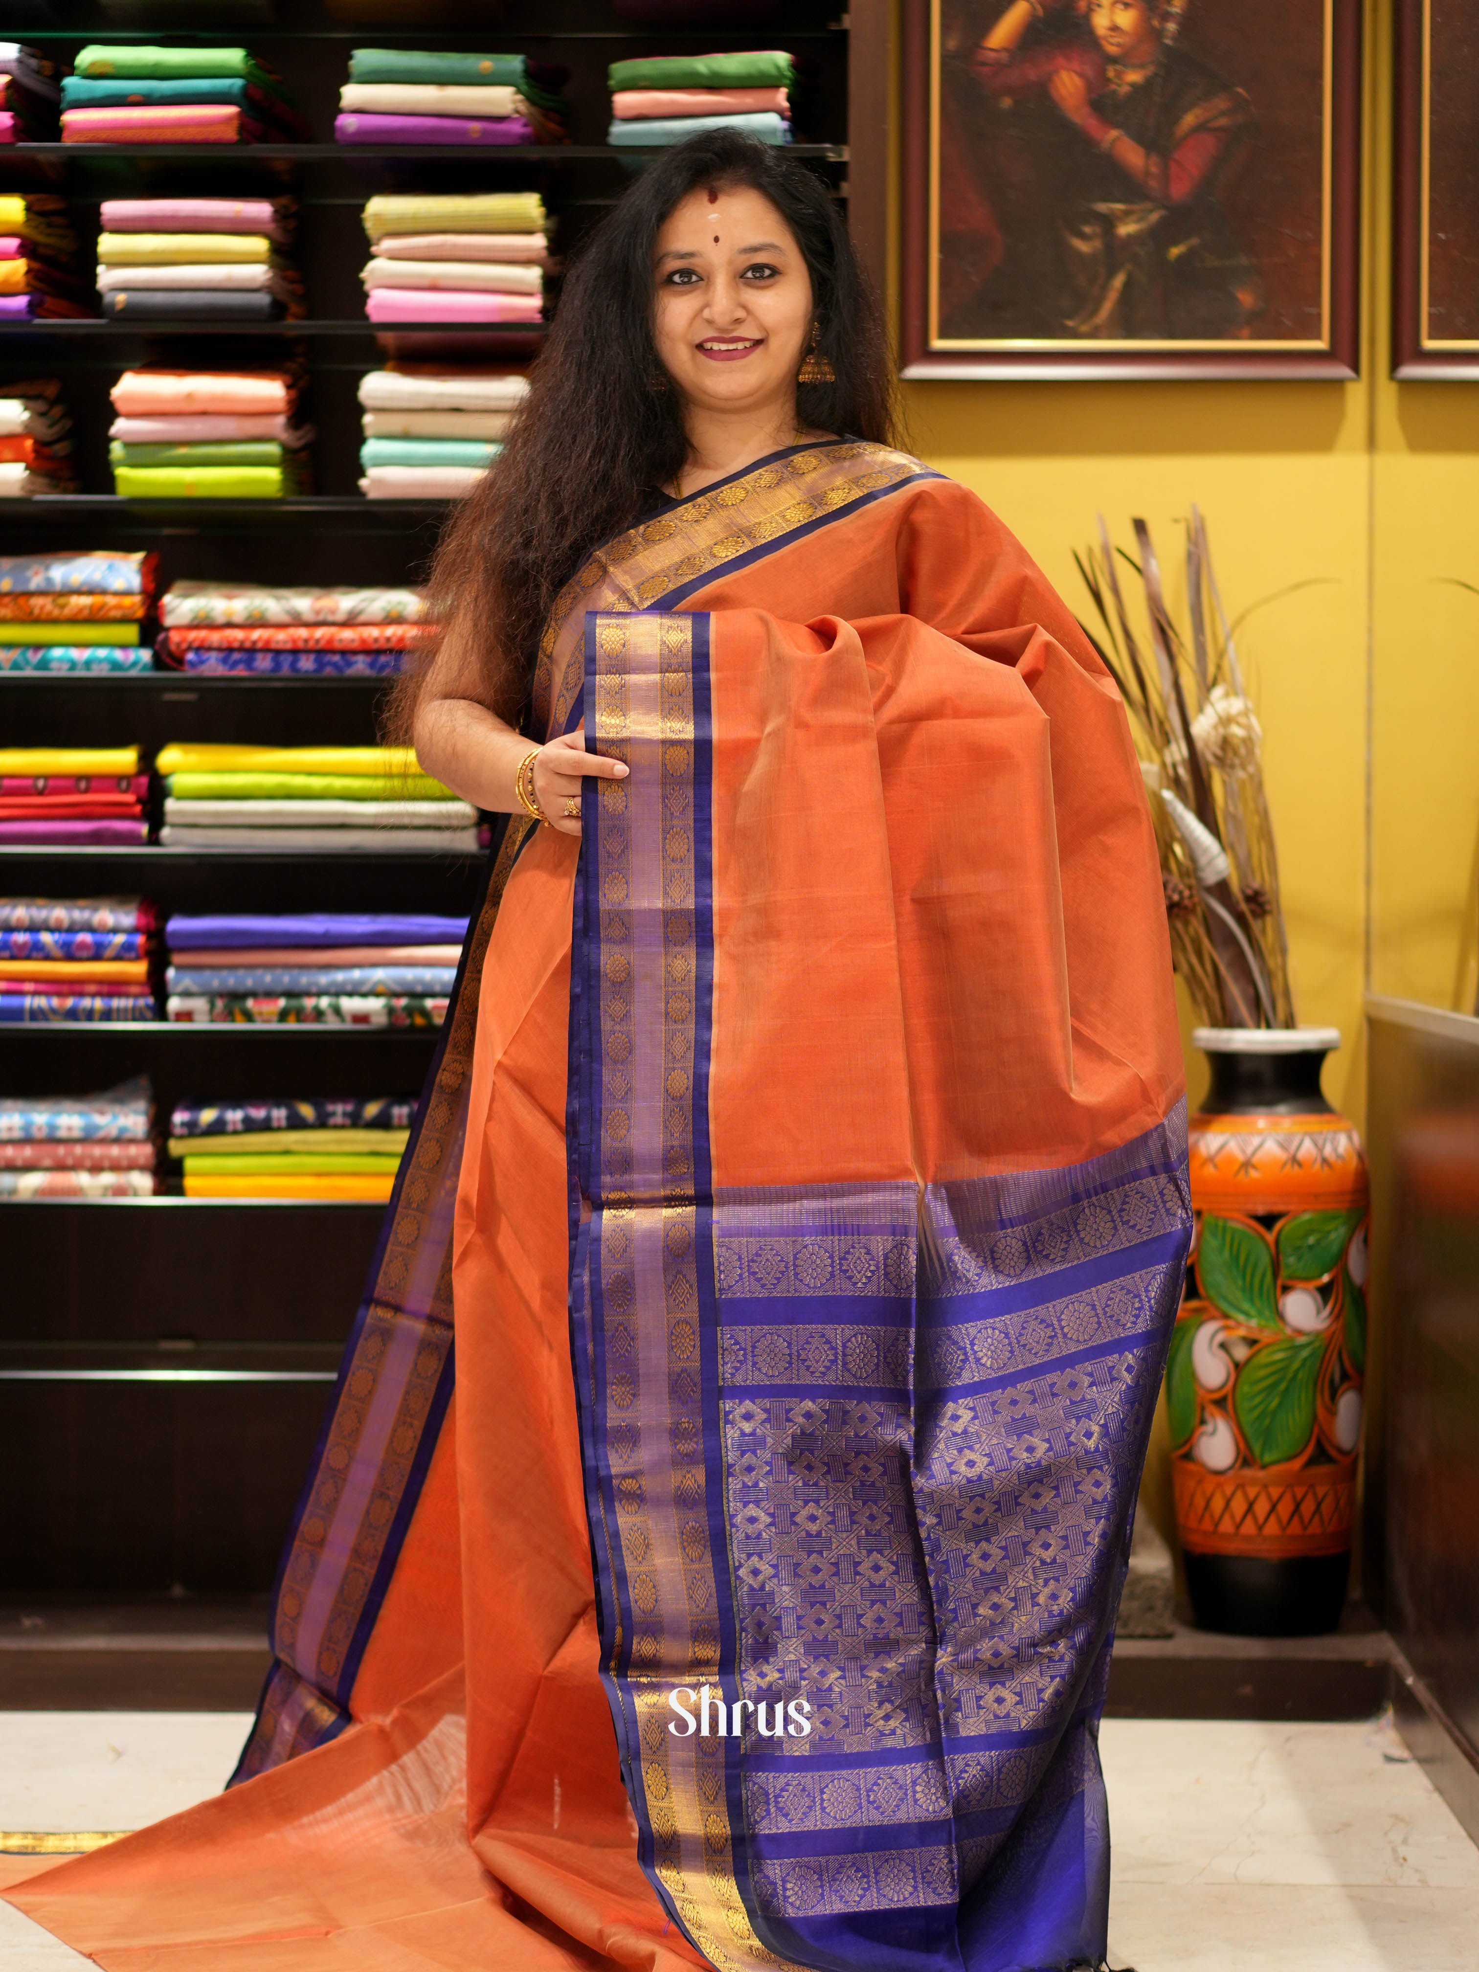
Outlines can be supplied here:
[[[1175, 968], [1209, 1025], [1292, 1027], [1264, 736], [1242, 684], [1207, 528], [1193, 507], [1183, 633], [1165, 607], [1150, 528], [1132, 527], [1140, 560], [1110, 544], [1100, 517], [1098, 546], [1075, 562], [1104, 635], [1085, 629], [1138, 728]], [[1120, 560], [1144, 590], [1148, 651], [1130, 623]]]

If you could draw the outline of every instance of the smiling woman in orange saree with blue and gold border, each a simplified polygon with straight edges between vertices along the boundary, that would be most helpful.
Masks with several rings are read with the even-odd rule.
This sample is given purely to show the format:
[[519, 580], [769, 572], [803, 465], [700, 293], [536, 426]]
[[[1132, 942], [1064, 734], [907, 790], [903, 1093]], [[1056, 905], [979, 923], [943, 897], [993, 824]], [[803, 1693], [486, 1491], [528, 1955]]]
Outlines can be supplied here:
[[16, 1897], [103, 1964], [1100, 1960], [1165, 917], [1102, 667], [887, 436], [824, 189], [669, 152], [400, 702], [511, 820], [241, 1785]]

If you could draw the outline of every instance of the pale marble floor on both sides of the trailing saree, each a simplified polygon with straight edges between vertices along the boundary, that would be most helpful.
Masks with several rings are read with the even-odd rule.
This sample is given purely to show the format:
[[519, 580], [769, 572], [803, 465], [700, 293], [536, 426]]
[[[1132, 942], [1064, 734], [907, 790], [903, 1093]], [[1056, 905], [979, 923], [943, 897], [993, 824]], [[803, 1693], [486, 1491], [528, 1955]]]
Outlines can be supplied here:
[[[245, 1714], [4, 1712], [0, 1828], [138, 1828], [215, 1793]], [[1479, 1850], [1386, 1722], [1110, 1720], [1110, 1964], [1471, 1972]], [[0, 1905], [0, 1972], [83, 1966]]]

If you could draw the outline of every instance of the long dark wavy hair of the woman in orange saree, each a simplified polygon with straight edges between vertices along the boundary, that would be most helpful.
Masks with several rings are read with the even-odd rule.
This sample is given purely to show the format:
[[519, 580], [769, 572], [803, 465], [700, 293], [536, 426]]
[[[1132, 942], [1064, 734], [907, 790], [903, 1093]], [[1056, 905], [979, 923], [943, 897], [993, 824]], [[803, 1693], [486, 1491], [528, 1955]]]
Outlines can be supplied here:
[[[816, 353], [834, 383], [797, 387], [803, 426], [895, 442], [883, 316], [822, 181], [771, 144], [706, 130], [665, 152], [572, 260], [560, 310], [503, 456], [450, 521], [432, 564], [432, 615], [477, 653], [489, 702], [521, 718], [540, 631], [560, 590], [601, 540], [627, 528], [651, 489], [676, 479], [688, 442], [682, 396], [653, 339], [653, 252], [694, 189], [749, 187], [777, 207], [807, 260]], [[390, 698], [408, 740], [424, 663]]]

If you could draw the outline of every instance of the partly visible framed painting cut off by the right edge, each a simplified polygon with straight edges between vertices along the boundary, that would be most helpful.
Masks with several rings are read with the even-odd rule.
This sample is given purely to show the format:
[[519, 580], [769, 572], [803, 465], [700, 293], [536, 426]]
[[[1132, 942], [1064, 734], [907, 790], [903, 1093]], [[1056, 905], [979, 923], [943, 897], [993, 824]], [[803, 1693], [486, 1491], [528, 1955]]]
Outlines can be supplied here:
[[1392, 375], [1479, 381], [1479, 0], [1398, 0]]

